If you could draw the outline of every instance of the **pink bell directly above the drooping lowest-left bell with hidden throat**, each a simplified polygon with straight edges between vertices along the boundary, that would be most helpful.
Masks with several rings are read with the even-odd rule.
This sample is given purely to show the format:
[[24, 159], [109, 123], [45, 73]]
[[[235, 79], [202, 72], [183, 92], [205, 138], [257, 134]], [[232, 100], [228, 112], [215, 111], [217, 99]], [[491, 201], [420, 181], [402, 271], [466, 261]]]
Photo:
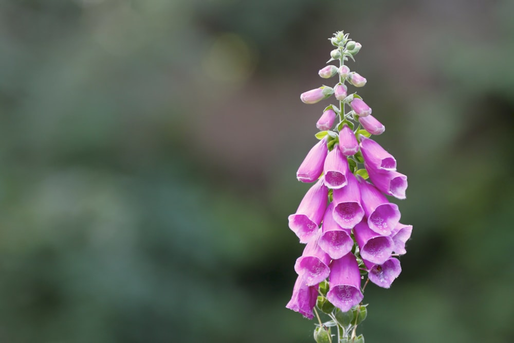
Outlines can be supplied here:
[[318, 245], [321, 229], [305, 246], [302, 256], [295, 263], [295, 272], [303, 275], [308, 286], [314, 286], [325, 280], [330, 274], [328, 264], [330, 256]]

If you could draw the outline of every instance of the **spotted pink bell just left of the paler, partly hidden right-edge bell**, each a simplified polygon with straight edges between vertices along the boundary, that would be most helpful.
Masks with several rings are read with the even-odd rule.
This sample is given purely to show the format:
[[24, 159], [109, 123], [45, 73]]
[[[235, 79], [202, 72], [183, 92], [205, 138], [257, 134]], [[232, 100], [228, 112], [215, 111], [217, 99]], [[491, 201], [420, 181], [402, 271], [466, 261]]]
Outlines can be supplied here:
[[381, 264], [391, 257], [394, 247], [391, 237], [382, 236], [370, 229], [365, 219], [355, 225], [354, 235], [362, 259]]

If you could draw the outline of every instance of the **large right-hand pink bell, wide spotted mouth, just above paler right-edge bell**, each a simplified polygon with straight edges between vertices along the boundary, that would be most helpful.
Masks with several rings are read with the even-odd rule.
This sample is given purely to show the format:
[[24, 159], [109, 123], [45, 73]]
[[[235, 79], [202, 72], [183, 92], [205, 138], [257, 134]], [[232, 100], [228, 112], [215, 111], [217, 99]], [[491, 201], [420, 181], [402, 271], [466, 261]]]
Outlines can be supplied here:
[[364, 179], [359, 179], [359, 186], [368, 226], [377, 233], [389, 236], [400, 220], [398, 205], [388, 202], [386, 196]]

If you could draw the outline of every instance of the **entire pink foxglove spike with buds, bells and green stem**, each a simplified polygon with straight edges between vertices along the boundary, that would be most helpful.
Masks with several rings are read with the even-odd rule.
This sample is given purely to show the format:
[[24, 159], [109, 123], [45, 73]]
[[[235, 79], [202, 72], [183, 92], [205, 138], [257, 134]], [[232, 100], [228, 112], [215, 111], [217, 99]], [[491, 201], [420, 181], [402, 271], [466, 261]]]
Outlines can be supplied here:
[[[363, 342], [355, 330], [367, 313], [364, 288], [369, 281], [389, 288], [398, 277], [397, 257], [406, 253], [412, 226], [399, 223], [398, 206], [385, 196], [405, 199], [407, 176], [396, 171], [396, 159], [370, 138], [382, 134], [384, 125], [360, 96], [347, 94], [346, 82], [355, 87], [366, 84], [344, 65], [354, 60], [361, 45], [343, 32], [334, 36], [331, 43], [336, 49], [327, 63], [340, 65], [322, 68], [319, 76], [339, 76], [339, 82], [300, 97], [313, 104], [334, 95], [339, 105], [324, 109], [316, 123], [319, 142], [297, 172], [298, 180], [314, 185], [289, 216], [289, 228], [306, 246], [295, 264], [298, 279], [286, 307], [309, 319], [316, 314], [318, 342], [332, 342], [332, 327], [337, 327], [337, 342]], [[331, 320], [322, 323], [316, 309]]]

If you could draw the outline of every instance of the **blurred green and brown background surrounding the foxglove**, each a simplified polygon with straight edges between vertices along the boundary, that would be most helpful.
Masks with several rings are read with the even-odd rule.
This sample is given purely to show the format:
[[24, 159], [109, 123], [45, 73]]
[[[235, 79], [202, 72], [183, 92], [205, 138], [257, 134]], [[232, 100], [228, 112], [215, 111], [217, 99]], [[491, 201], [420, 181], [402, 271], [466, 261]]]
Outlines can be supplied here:
[[[313, 342], [287, 226], [345, 30], [414, 231], [369, 342], [514, 341], [514, 2], [3, 0], [0, 342]], [[325, 81], [326, 82], [326, 81]]]

